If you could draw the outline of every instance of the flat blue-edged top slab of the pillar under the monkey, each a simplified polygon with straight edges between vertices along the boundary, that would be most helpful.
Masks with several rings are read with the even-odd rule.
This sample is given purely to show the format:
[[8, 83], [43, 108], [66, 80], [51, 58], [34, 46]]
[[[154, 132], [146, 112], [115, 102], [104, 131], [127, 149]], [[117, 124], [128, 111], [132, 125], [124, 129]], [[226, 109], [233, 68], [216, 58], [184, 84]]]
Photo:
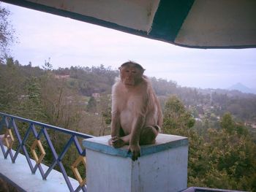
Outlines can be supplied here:
[[[89, 150], [106, 153], [108, 155], [116, 155], [124, 158], [132, 158], [131, 153], [128, 153], [128, 145], [120, 148], [114, 148], [108, 145], [108, 139], [110, 135], [103, 137], [94, 137], [83, 140], [83, 146]], [[149, 155], [152, 153], [158, 153], [163, 150], [170, 148], [176, 148], [188, 145], [187, 137], [181, 137], [170, 134], [158, 134], [156, 143], [154, 145], [141, 145], [140, 146], [140, 157], [143, 155]]]

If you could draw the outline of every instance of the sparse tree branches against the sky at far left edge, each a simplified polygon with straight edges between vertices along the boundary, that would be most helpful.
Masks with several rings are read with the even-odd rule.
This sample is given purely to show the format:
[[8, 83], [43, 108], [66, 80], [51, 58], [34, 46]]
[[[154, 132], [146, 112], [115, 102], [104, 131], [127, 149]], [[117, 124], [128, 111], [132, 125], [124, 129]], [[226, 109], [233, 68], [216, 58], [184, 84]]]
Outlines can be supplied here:
[[15, 30], [12, 28], [12, 24], [8, 17], [10, 11], [1, 6], [0, 2], [0, 62], [4, 61], [4, 58], [9, 55], [8, 47], [15, 42]]

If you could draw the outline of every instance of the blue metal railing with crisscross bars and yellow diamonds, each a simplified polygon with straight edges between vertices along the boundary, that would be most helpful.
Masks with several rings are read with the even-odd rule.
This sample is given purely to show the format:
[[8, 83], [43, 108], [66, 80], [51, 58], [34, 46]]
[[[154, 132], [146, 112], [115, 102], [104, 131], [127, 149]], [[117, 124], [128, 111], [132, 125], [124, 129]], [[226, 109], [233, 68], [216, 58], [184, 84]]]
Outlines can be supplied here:
[[[35, 173], [37, 171], [37, 169], [39, 169], [39, 172], [42, 175], [43, 180], [46, 180], [46, 178], [48, 177], [48, 174], [50, 174], [50, 172], [53, 170], [53, 168], [56, 165], [58, 165], [60, 172], [63, 174], [64, 180], [67, 183], [67, 187], [69, 188], [69, 191], [80, 191], [80, 190], [86, 191], [86, 185], [85, 185], [84, 180], [80, 181], [79, 178], [77, 177], [76, 173], [74, 173], [74, 174], [75, 174], [75, 177], [77, 177], [80, 185], [78, 185], [78, 187], [75, 189], [72, 187], [72, 184], [69, 181], [69, 177], [67, 175], [66, 169], [64, 168], [64, 164], [63, 164], [62, 160], [64, 158], [64, 155], [67, 153], [67, 151], [69, 150], [69, 147], [72, 144], [75, 145], [75, 148], [78, 151], [78, 154], [80, 155], [78, 157], [78, 161], [80, 161], [79, 159], [83, 159], [86, 156], [86, 149], [82, 149], [78, 139], [88, 139], [93, 136], [88, 135], [88, 134], [81, 134], [76, 131], [70, 131], [70, 130], [67, 130], [64, 128], [59, 128], [56, 126], [50, 126], [48, 124], [39, 123], [34, 120], [28, 120], [28, 119], [20, 118], [20, 117], [13, 116], [13, 115], [7, 115], [2, 112], [0, 112], [0, 120], [1, 120], [0, 121], [0, 133], [4, 131], [4, 128], [6, 129], [4, 138], [0, 139], [0, 146], [1, 146], [1, 150], [4, 154], [4, 158], [7, 158], [7, 156], [10, 155], [12, 163], [15, 163], [15, 160], [18, 157], [18, 154], [20, 152], [23, 152], [23, 154], [26, 156], [26, 160], [29, 164], [29, 168], [31, 169], [31, 172]], [[25, 128], [26, 131], [23, 134], [23, 138], [20, 137], [20, 130], [17, 126], [17, 123], [23, 123], [23, 125], [26, 124], [28, 126]], [[15, 150], [12, 150], [12, 143], [13, 143], [12, 130], [15, 133], [14, 134], [15, 139], [17, 139], [17, 141], [18, 141], [18, 145], [15, 146]], [[37, 131], [37, 130], [39, 130], [39, 131]], [[59, 155], [56, 152], [56, 148], [53, 146], [53, 142], [52, 142], [52, 139], [50, 138], [50, 135], [48, 134], [48, 131], [50, 131], [50, 130], [56, 131], [57, 133], [65, 134], [68, 138], [67, 142], [64, 144], [64, 147], [61, 147], [61, 152], [59, 153]], [[37, 159], [37, 155], [36, 155], [36, 157], [34, 157], [37, 159], [36, 160], [37, 163], [34, 166], [31, 163], [31, 157], [29, 155], [29, 152], [28, 152], [27, 146], [26, 146], [26, 143], [28, 142], [28, 139], [29, 139], [29, 135], [33, 135], [35, 142], [39, 142], [39, 143], [41, 143], [40, 139], [42, 139], [44, 137], [46, 140], [45, 143], [47, 143], [48, 147], [50, 148], [50, 151], [53, 155], [53, 161], [51, 162], [51, 164], [48, 167], [48, 170], [46, 172], [44, 172], [44, 170], [42, 169], [41, 161]], [[5, 145], [7, 145], [7, 147], [4, 147], [4, 141], [5, 141]], [[37, 145], [37, 143], [34, 146], [38, 147], [42, 153], [43, 149], [39, 145]], [[15, 153], [12, 153], [13, 151], [15, 151]], [[42, 158], [43, 158], [43, 156], [42, 156]], [[78, 161], [77, 161], [77, 163], [75, 163], [75, 166], [79, 163]], [[73, 167], [73, 169], [74, 169], [74, 167]], [[75, 167], [75, 169], [77, 169], [77, 168]]]

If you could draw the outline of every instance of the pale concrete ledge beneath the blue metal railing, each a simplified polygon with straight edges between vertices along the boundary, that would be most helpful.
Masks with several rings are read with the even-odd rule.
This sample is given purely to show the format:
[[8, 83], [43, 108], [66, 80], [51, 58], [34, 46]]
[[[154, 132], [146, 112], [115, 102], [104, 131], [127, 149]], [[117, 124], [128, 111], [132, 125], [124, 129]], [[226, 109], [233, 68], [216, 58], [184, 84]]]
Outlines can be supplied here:
[[[6, 147], [5, 147], [6, 149]], [[15, 153], [12, 150], [12, 153]], [[34, 160], [31, 160], [34, 165]], [[44, 172], [48, 169], [48, 166], [42, 165]], [[33, 191], [33, 192], [69, 192], [69, 188], [64, 180], [61, 172], [52, 170], [47, 177], [47, 180], [42, 180], [42, 176], [37, 170], [35, 174], [31, 173], [29, 169], [29, 164], [26, 161], [26, 157], [19, 154], [16, 158], [15, 164], [12, 164], [10, 157], [4, 159], [4, 155], [0, 149], [0, 177], [7, 182], [14, 185], [20, 191]], [[77, 180], [69, 177], [70, 183], [73, 188], [77, 188], [79, 183]]]

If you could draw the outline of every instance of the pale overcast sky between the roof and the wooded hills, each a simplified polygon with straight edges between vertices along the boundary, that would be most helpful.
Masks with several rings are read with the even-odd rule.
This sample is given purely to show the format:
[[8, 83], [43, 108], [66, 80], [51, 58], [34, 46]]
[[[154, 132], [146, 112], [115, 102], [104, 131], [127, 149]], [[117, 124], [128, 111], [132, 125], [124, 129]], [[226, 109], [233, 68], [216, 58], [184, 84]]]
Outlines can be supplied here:
[[148, 77], [193, 88], [229, 88], [241, 82], [256, 89], [256, 49], [202, 50], [126, 34], [45, 12], [1, 3], [10, 10], [18, 43], [11, 54], [20, 64], [54, 69], [110, 66], [135, 61]]

